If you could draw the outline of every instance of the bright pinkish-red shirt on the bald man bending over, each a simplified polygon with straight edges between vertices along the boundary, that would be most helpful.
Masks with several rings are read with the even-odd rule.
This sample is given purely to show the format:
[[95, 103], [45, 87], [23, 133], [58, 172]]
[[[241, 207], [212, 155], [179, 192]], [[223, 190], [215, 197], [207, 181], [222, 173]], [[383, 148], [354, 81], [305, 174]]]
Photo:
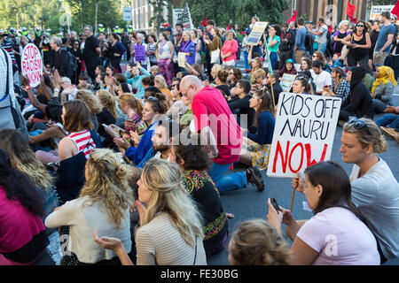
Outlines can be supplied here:
[[195, 130], [200, 132], [210, 126], [215, 136], [219, 155], [213, 160], [216, 164], [231, 164], [239, 161], [242, 134], [236, 117], [219, 89], [203, 88], [192, 99], [192, 115]]

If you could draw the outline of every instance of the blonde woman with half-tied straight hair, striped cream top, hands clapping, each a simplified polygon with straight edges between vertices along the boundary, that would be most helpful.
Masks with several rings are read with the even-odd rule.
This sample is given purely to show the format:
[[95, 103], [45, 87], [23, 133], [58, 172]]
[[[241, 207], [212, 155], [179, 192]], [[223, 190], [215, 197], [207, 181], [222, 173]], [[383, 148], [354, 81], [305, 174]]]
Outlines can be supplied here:
[[[137, 265], [207, 264], [200, 212], [186, 195], [181, 177], [178, 165], [167, 160], [152, 158], [145, 164], [137, 181]], [[95, 234], [95, 241], [115, 250], [122, 264], [131, 264], [120, 240]]]

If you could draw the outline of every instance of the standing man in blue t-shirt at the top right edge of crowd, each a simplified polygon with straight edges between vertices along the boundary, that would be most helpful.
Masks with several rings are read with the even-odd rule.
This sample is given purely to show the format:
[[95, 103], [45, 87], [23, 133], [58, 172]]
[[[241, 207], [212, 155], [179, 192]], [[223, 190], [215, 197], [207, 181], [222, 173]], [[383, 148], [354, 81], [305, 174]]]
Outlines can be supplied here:
[[389, 19], [391, 13], [389, 11], [384, 11], [381, 13], [381, 22], [383, 26], [379, 30], [379, 37], [375, 44], [374, 50], [374, 65], [384, 65], [385, 59], [389, 55], [389, 50], [391, 49], [392, 41], [395, 36], [395, 26], [391, 25]]

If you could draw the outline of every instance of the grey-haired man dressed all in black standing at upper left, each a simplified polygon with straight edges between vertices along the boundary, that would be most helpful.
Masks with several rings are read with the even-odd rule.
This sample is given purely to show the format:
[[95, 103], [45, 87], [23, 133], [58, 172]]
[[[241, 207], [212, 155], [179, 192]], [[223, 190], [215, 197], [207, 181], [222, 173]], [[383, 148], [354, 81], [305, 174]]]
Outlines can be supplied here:
[[94, 81], [96, 80], [96, 74], [94, 73], [94, 70], [99, 65], [99, 56], [101, 55], [101, 50], [99, 48], [98, 39], [93, 34], [93, 27], [86, 25], [83, 27], [83, 32], [85, 41], [82, 51], [82, 58], [91, 81]]

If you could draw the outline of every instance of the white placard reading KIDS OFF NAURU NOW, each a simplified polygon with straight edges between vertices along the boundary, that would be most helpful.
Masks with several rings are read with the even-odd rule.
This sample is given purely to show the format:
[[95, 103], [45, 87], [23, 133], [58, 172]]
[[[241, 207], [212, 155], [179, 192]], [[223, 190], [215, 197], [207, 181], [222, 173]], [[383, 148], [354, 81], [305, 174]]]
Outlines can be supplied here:
[[268, 176], [293, 178], [306, 167], [330, 159], [340, 103], [340, 97], [279, 95]]

